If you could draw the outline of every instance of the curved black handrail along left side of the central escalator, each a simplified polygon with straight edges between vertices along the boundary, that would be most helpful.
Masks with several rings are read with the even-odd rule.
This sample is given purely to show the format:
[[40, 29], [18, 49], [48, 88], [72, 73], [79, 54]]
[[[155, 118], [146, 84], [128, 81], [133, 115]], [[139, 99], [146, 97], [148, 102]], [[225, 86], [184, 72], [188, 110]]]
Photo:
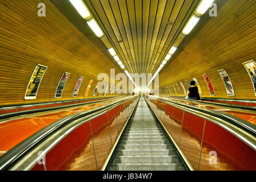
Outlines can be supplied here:
[[[37, 133], [31, 135], [29, 138], [23, 140], [23, 142], [17, 144], [17, 146], [11, 148], [11, 150], [7, 151], [0, 157], [0, 170], [7, 170], [11, 168], [11, 166], [18, 162], [24, 155], [26, 155], [30, 150], [32, 150], [35, 146], [37, 146], [40, 142], [45, 140], [50, 135], [54, 134], [62, 127], [68, 125], [69, 123], [82, 118], [86, 117], [90, 114], [97, 113], [98, 111], [106, 110], [106, 109], [113, 109], [113, 107], [123, 104], [124, 102], [130, 100], [132, 97], [126, 98], [125, 100], [117, 101], [111, 103], [107, 106], [97, 107], [95, 109], [89, 111], [83, 111], [81, 113], [76, 113], [69, 115], [65, 118], [61, 118], [54, 123], [46, 126], [42, 130], [39, 130]], [[102, 114], [106, 111], [102, 111]]]

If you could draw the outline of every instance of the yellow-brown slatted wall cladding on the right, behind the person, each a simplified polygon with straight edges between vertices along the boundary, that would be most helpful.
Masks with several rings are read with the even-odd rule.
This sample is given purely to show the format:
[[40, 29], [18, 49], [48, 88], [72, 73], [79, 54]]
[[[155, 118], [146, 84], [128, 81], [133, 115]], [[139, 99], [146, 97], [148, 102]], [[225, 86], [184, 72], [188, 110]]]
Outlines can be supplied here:
[[[167, 66], [160, 73], [160, 87], [197, 78], [202, 97], [256, 99], [250, 77], [242, 63], [256, 59], [256, 1], [216, 0], [218, 16], [206, 12], [197, 26], [179, 45]], [[226, 69], [235, 96], [227, 96], [217, 72]], [[208, 74], [215, 96], [202, 75]], [[180, 85], [179, 85], [180, 86]], [[181, 86], [180, 86], [181, 87]]]

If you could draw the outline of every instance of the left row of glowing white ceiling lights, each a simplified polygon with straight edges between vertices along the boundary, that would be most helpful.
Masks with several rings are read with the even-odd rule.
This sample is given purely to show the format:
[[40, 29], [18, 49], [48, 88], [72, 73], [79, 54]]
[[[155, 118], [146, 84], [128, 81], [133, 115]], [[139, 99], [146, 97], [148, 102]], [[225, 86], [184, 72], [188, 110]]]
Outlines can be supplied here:
[[[98, 38], [103, 38], [104, 34], [101, 30], [101, 28], [98, 26], [97, 22], [94, 20], [94, 18], [91, 16], [89, 10], [85, 6], [82, 0], [69, 0], [70, 3], [74, 6], [74, 8], [78, 11], [78, 13], [82, 16], [83, 19], [86, 20], [86, 23], [91, 28], [91, 30], [94, 32]], [[102, 40], [104, 41], [104, 40]], [[106, 40], [105, 40], [106, 41]], [[108, 41], [107, 41], [108, 42]], [[106, 45], [106, 44], [105, 44]], [[113, 56], [115, 61], [120, 65], [122, 69], [125, 68], [122, 61], [119, 59], [117, 53], [115, 52], [113, 47], [107, 48], [110, 55]], [[133, 79], [131, 78], [130, 74], [125, 71], [126, 75], [129, 77], [129, 79], [134, 83]], [[137, 85], [134, 83], [134, 85], [137, 87]]]

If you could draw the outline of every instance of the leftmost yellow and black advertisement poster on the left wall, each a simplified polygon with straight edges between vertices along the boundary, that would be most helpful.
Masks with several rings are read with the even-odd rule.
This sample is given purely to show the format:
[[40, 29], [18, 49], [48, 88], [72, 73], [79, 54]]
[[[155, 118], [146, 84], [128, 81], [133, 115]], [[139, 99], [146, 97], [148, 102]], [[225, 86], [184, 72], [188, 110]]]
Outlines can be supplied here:
[[27, 85], [27, 90], [24, 98], [25, 100], [37, 98], [37, 92], [43, 79], [43, 75], [45, 75], [46, 69], [46, 66], [40, 64], [35, 67], [34, 72], [30, 77], [29, 84]]

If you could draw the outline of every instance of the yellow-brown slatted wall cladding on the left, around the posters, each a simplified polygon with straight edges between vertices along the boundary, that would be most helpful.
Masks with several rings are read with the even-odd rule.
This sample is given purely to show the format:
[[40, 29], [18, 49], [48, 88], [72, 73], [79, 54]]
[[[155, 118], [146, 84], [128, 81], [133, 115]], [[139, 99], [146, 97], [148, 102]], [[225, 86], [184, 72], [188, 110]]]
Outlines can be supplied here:
[[[46, 5], [45, 17], [37, 15], [41, 2]], [[89, 96], [93, 96], [99, 73], [110, 74], [110, 68], [121, 72], [111, 56], [102, 51], [102, 43], [93, 32], [82, 34], [49, 1], [2, 0], [0, 10], [0, 105], [73, 99], [79, 76], [85, 80], [77, 98], [84, 98], [91, 78], [94, 82]], [[37, 99], [23, 100], [37, 64], [48, 67]], [[69, 72], [70, 77], [62, 98], [55, 99], [63, 72]]]

